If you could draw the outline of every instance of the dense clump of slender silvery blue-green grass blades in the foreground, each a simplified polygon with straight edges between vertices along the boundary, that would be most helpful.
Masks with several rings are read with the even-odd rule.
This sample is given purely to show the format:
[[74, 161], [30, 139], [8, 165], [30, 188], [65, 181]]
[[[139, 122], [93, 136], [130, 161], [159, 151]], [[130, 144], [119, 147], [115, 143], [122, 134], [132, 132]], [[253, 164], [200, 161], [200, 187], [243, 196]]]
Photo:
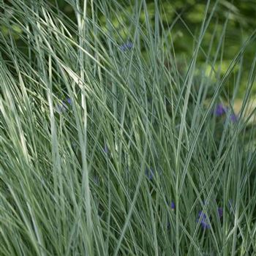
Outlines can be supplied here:
[[256, 56], [238, 120], [214, 115], [230, 81], [232, 109], [255, 32], [221, 75], [229, 19], [202, 48], [208, 1], [181, 72], [168, 35], [183, 20], [163, 30], [158, 1], [154, 24], [146, 1], [69, 1], [76, 20], [48, 1], [0, 3], [1, 255], [256, 255]]

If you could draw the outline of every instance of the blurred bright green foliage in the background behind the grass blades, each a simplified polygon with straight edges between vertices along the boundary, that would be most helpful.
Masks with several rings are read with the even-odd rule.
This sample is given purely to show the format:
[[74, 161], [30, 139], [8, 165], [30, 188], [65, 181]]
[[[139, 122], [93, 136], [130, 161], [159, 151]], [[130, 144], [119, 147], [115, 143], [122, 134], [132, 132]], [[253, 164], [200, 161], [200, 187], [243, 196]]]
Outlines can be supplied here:
[[[2, 0], [3, 1], [3, 0]], [[7, 1], [10, 6], [12, 6], [12, 1]], [[53, 11], [64, 13], [67, 15], [70, 20], [75, 21], [75, 1], [74, 0], [45, 0], [38, 1], [43, 4], [52, 4]], [[91, 1], [89, 1], [91, 3]], [[105, 6], [108, 5], [110, 13], [108, 14], [108, 20], [113, 23], [116, 31], [118, 31], [119, 37], [117, 35], [116, 42], [126, 42], [127, 35], [131, 37], [132, 29], [130, 26], [130, 20], [127, 18], [127, 14], [130, 13], [132, 16], [132, 11], [137, 5], [138, 7], [142, 3], [140, 0], [93, 0], [94, 3], [94, 12], [97, 15], [97, 20], [101, 24], [103, 30], [107, 30], [107, 18], [105, 13], [102, 13], [101, 7], [102, 4]], [[216, 3], [215, 0], [211, 1], [209, 10], [211, 11], [212, 7]], [[80, 4], [83, 4], [83, 1], [80, 0]], [[173, 25], [170, 31], [170, 43], [173, 42], [174, 48], [176, 50], [177, 59], [182, 61], [189, 60], [189, 57], [192, 56], [193, 44], [195, 44], [195, 39], [199, 34], [200, 25], [203, 21], [204, 11], [206, 10], [206, 0], [146, 0], [146, 10], [148, 18], [151, 21], [151, 26], [153, 29], [156, 29], [156, 20], [155, 12], [156, 10], [160, 14], [160, 19], [162, 26], [158, 26], [158, 35], [159, 38], [162, 36], [162, 29], [167, 31], [170, 29], [170, 26]], [[58, 7], [55, 9], [55, 7]], [[143, 25], [146, 23], [146, 12], [145, 7], [142, 8], [140, 13], [140, 23]], [[7, 10], [1, 10], [4, 12], [4, 18], [8, 19], [11, 17], [11, 13]], [[88, 8], [89, 15], [91, 14], [91, 8]], [[178, 18], [179, 17], [179, 18]], [[211, 23], [208, 26], [206, 34], [204, 36], [202, 47], [205, 52], [208, 52], [208, 46], [211, 42], [212, 35], [216, 33], [214, 37], [212, 50], [210, 53], [210, 59], [214, 59], [214, 50], [217, 49], [218, 39], [222, 34], [225, 21], [228, 17], [227, 29], [225, 31], [225, 45], [223, 45], [223, 56], [222, 56], [222, 65], [221, 72], [222, 74], [227, 70], [230, 61], [234, 58], [238, 50], [241, 48], [241, 45], [252, 34], [256, 29], [256, 1], [255, 0], [219, 0], [217, 5], [217, 10], [214, 12]], [[124, 26], [126, 24], [126, 26]], [[1, 22], [1, 33], [7, 35], [10, 33], [7, 26], [4, 25], [4, 22]], [[134, 29], [134, 28], [133, 28]], [[16, 43], [20, 47], [24, 47], [22, 40], [20, 40], [19, 34], [22, 30], [17, 26], [12, 26], [12, 31]], [[123, 39], [123, 42], [121, 42]], [[131, 38], [128, 38], [131, 39]], [[249, 68], [252, 64], [252, 59], [255, 56], [256, 42], [255, 45], [249, 45], [246, 48], [244, 53], [244, 63], [243, 63], [243, 77], [241, 78], [241, 86], [239, 88], [239, 95], [242, 96], [244, 93], [244, 88], [246, 86], [246, 80], [248, 78]], [[26, 49], [23, 49], [26, 50]], [[165, 50], [165, 49], [164, 49]], [[145, 54], [146, 55], [146, 54]], [[182, 62], [181, 63], [184, 63]], [[205, 63], [205, 56], [201, 54], [198, 58], [199, 64]], [[183, 65], [183, 64], [182, 64]], [[186, 64], [184, 64], [186, 66]], [[200, 65], [199, 65], [200, 66]], [[219, 67], [219, 62], [216, 64]], [[201, 68], [198, 69], [198, 72], [201, 72]], [[210, 70], [210, 66], [203, 67], [204, 72], [207, 75], [207, 72]], [[235, 70], [236, 71], [236, 70]], [[200, 74], [198, 74], [200, 75]], [[236, 74], [234, 74], [236, 75]], [[230, 82], [230, 91], [232, 91], [232, 82]], [[256, 85], [254, 86], [254, 93], [256, 94]]]

